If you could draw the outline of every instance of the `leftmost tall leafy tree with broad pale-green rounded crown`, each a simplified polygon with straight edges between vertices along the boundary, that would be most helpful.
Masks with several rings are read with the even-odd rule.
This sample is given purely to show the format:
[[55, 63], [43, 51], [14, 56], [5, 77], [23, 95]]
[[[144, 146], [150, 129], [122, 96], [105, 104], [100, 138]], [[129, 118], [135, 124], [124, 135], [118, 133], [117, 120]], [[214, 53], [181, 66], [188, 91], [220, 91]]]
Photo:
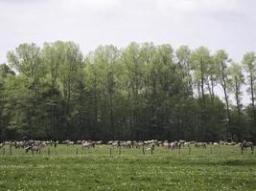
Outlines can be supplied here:
[[23, 129], [26, 129], [26, 131], [22, 131], [24, 138], [38, 138], [44, 128], [40, 122], [42, 110], [38, 104], [45, 75], [40, 48], [34, 43], [21, 44], [15, 49], [15, 52], [8, 53], [8, 62], [12, 69], [19, 74], [16, 80], [20, 81], [16, 82], [16, 85], [19, 84], [18, 89], [22, 93], [13, 93], [16, 94], [18, 108], [12, 117], [12, 124], [16, 124], [14, 126], [18, 127], [18, 120], [22, 118]]

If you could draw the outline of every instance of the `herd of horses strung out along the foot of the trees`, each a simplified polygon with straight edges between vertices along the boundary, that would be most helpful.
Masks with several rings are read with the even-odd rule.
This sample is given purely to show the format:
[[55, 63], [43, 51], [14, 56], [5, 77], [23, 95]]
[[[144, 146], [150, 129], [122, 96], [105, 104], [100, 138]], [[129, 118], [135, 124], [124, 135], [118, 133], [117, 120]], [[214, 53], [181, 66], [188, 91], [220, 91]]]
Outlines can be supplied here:
[[[59, 141], [53, 141], [53, 140], [21, 140], [21, 141], [4, 141], [0, 142], [0, 150], [4, 147], [4, 145], [10, 145], [13, 146], [16, 149], [25, 149], [25, 152], [28, 153], [29, 151], [32, 152], [32, 154], [38, 154], [40, 152], [40, 149], [50, 145], [57, 147], [59, 143], [66, 144], [67, 146], [70, 145], [81, 145], [81, 149], [89, 149], [94, 148], [96, 145], [103, 145], [103, 141], [92, 141], [92, 140], [78, 140], [78, 141], [71, 141], [71, 140], [64, 140], [62, 142]], [[247, 148], [250, 149], [250, 151], [253, 153], [254, 151], [254, 144], [251, 141], [243, 141], [243, 142], [197, 142], [197, 141], [185, 141], [185, 140], [175, 140], [175, 141], [159, 141], [156, 139], [152, 140], [145, 140], [145, 141], [122, 141], [122, 140], [110, 140], [105, 142], [106, 145], [109, 145], [110, 147], [123, 147], [123, 148], [141, 148], [141, 147], [148, 147], [149, 149], [154, 149], [156, 146], [158, 147], [164, 147], [165, 149], [181, 149], [182, 147], [201, 147], [206, 148], [207, 145], [213, 145], [213, 146], [221, 146], [221, 145], [235, 145], [241, 148], [241, 152], [243, 153], [244, 150], [247, 150]]]

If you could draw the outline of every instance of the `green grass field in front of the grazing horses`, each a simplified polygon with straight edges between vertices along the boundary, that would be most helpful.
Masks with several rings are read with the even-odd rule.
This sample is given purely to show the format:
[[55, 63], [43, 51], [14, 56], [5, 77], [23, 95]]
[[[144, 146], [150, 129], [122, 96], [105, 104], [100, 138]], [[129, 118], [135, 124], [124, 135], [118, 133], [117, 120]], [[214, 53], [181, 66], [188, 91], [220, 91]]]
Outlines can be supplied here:
[[256, 154], [242, 156], [235, 146], [156, 147], [153, 155], [111, 149], [111, 156], [106, 145], [49, 148], [40, 155], [1, 149], [0, 190], [256, 190]]

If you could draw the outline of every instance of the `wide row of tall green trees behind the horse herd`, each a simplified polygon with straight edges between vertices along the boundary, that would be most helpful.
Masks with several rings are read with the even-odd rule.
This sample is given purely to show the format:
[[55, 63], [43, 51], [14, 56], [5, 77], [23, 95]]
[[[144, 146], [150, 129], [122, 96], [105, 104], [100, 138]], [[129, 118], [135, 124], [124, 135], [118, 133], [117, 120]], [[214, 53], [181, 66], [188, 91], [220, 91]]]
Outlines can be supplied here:
[[237, 63], [206, 47], [131, 42], [83, 54], [57, 41], [20, 44], [7, 60], [0, 140], [256, 141], [253, 52]]

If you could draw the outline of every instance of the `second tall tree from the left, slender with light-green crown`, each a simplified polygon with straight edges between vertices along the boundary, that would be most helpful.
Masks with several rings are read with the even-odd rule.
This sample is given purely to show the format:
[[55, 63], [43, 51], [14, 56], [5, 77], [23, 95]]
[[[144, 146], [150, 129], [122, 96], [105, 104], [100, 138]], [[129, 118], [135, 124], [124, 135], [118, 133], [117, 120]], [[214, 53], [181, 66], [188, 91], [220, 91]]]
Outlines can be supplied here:
[[[50, 138], [63, 138], [61, 125], [63, 116], [63, 97], [60, 92], [60, 66], [65, 61], [65, 44], [61, 41], [44, 43], [41, 51], [42, 61], [46, 68], [45, 81], [47, 88], [43, 93], [45, 100], [45, 120], [47, 135]], [[62, 122], [61, 122], [62, 121]]]

